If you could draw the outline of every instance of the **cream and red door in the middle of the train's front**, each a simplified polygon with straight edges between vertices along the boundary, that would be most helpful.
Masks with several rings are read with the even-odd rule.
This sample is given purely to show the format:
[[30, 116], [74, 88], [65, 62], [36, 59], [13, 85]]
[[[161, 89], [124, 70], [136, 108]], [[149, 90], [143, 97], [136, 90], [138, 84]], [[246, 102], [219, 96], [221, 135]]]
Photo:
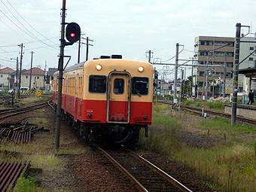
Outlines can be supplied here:
[[130, 74], [114, 72], [108, 75], [108, 117], [109, 123], [130, 121]]

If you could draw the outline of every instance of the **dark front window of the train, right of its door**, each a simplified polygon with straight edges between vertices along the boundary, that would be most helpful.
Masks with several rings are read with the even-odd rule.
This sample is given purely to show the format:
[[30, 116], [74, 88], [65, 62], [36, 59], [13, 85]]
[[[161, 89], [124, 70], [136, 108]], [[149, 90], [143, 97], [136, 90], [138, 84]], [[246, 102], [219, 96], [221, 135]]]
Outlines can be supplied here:
[[133, 95], [148, 95], [148, 78], [133, 78], [132, 79]]

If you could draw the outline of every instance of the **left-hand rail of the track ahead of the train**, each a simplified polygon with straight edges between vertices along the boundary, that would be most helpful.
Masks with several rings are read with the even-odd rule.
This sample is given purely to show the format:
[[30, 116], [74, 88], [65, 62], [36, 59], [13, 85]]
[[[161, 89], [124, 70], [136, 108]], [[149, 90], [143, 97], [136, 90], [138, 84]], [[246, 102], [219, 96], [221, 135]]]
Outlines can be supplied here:
[[[99, 148], [99, 147], [97, 147], [97, 148]], [[105, 155], [105, 157], [107, 157], [108, 160], [110, 160], [111, 163], [113, 163], [114, 166], [117, 167], [117, 169], [119, 169], [121, 172], [123, 172], [123, 174], [126, 175], [130, 179], [130, 181], [132, 181], [134, 184], [136, 184], [136, 187], [139, 189], [139, 191], [148, 192], [148, 190], [145, 189], [145, 187], [143, 187], [143, 185], [136, 178], [134, 178], [133, 175], [130, 174], [130, 172], [126, 171], [126, 169], [124, 169], [123, 166], [120, 165], [120, 163], [118, 163], [116, 160], [114, 160], [114, 158], [111, 157], [102, 148], [99, 148], [99, 150], [102, 151], [102, 153]]]

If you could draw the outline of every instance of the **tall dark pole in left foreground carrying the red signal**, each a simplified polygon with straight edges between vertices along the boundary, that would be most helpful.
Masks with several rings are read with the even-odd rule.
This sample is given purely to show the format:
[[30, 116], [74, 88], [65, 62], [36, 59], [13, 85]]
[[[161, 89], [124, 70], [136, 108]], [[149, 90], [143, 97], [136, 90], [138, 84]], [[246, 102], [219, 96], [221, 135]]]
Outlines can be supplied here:
[[58, 86], [58, 103], [56, 111], [56, 134], [55, 134], [55, 148], [59, 151], [59, 133], [60, 133], [60, 116], [61, 116], [61, 103], [62, 103], [62, 77], [63, 77], [63, 60], [64, 60], [64, 47], [65, 47], [65, 17], [66, 17], [66, 0], [62, 0], [62, 22], [61, 22], [61, 39], [60, 39], [60, 53], [59, 53], [59, 86]]

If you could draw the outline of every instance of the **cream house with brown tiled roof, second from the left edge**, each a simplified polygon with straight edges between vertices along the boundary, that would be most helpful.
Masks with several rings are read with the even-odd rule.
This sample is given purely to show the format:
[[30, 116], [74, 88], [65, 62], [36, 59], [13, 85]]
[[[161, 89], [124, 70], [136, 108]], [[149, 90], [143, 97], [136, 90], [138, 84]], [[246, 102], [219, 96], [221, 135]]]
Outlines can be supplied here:
[[[21, 86], [29, 87], [30, 81], [30, 69], [22, 72], [21, 75]], [[32, 68], [31, 72], [31, 89], [43, 90], [44, 89], [44, 70], [39, 68]]]

